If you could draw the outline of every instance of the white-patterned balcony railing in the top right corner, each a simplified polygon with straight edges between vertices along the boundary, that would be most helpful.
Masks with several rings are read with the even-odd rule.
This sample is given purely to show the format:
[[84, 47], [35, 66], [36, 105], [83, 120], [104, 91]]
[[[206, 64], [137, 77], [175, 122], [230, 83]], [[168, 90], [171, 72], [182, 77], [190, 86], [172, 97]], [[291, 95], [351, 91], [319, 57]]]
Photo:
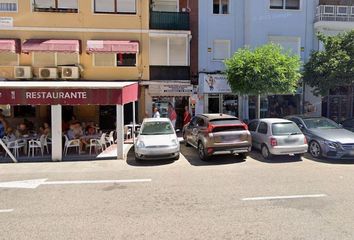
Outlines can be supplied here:
[[320, 5], [315, 21], [354, 22], [354, 6]]

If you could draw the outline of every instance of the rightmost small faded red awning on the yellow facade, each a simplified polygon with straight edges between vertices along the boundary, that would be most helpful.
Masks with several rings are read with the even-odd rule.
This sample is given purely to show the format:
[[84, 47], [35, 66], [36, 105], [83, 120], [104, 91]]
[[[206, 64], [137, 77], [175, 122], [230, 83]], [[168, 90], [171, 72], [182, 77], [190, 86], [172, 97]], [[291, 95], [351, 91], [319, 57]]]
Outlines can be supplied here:
[[138, 53], [139, 42], [117, 40], [88, 40], [88, 53]]

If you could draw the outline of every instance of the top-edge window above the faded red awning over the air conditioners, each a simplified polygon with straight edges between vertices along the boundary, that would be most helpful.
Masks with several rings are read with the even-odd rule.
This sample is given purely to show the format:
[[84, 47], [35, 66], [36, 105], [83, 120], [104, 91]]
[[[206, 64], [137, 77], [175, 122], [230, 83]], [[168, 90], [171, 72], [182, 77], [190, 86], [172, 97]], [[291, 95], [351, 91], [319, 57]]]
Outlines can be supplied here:
[[33, 0], [35, 12], [78, 12], [78, 0]]

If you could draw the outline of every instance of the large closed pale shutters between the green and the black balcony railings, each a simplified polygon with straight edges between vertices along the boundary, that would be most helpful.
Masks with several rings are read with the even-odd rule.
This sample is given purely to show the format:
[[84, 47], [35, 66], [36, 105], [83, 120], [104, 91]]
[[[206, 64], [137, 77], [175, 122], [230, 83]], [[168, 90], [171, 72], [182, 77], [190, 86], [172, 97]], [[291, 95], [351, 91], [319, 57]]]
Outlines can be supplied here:
[[188, 66], [188, 47], [186, 37], [151, 37], [150, 65]]

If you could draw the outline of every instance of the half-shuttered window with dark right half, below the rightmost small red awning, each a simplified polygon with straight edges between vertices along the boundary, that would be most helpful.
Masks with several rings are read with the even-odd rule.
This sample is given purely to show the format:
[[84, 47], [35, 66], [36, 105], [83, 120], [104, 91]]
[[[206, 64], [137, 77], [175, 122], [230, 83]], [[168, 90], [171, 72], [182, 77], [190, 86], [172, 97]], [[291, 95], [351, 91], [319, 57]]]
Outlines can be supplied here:
[[135, 53], [94, 53], [95, 67], [135, 67]]

